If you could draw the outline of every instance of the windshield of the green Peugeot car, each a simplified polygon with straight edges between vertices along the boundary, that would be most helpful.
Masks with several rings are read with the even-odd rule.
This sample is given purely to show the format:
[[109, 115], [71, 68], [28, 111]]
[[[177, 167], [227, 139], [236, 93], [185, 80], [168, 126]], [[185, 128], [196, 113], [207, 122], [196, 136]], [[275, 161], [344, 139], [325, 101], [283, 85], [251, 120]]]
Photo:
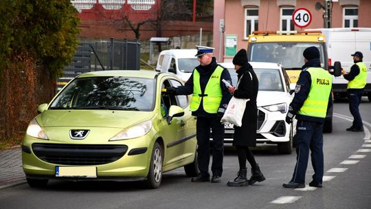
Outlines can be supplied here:
[[76, 78], [49, 109], [152, 111], [155, 80], [126, 77]]

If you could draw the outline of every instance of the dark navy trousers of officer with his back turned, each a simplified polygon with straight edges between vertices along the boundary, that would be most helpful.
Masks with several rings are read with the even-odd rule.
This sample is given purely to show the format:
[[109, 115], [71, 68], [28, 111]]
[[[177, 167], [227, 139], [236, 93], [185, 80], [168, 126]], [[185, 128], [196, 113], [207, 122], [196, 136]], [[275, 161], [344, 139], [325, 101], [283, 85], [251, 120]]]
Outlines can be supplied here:
[[311, 160], [314, 170], [313, 181], [322, 183], [324, 177], [324, 138], [322, 135], [324, 123], [297, 120], [296, 126], [296, 165], [291, 181], [305, 184], [308, 155], [311, 150]]

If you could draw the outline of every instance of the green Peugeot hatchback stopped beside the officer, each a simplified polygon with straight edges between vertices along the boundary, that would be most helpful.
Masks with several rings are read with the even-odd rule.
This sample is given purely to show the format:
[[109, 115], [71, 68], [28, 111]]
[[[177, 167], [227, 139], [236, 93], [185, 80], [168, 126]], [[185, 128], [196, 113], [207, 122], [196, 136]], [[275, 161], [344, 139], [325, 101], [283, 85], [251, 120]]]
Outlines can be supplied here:
[[146, 181], [184, 166], [197, 175], [196, 118], [172, 74], [102, 71], [71, 80], [38, 106], [22, 142], [23, 171], [32, 187], [49, 179]]

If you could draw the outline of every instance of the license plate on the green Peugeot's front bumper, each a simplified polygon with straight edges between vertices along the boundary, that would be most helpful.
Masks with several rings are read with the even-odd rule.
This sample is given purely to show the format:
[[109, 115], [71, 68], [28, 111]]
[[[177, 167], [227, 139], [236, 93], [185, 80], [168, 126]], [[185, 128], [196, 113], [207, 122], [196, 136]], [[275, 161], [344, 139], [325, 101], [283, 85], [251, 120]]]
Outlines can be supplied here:
[[96, 178], [96, 167], [56, 166], [56, 177]]

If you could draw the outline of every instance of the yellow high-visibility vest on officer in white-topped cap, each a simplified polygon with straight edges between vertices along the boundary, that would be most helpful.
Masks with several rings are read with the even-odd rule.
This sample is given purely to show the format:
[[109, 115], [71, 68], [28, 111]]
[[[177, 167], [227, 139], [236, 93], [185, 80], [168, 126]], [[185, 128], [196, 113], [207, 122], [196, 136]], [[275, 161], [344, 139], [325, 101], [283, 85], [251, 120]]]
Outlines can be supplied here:
[[221, 74], [223, 67], [218, 66], [210, 76], [209, 81], [205, 87], [205, 92], [202, 94], [200, 85], [200, 74], [195, 69], [193, 72], [193, 95], [190, 102], [190, 111], [199, 109], [201, 99], [203, 100], [203, 109], [207, 113], [217, 113], [219, 105], [221, 104]]

